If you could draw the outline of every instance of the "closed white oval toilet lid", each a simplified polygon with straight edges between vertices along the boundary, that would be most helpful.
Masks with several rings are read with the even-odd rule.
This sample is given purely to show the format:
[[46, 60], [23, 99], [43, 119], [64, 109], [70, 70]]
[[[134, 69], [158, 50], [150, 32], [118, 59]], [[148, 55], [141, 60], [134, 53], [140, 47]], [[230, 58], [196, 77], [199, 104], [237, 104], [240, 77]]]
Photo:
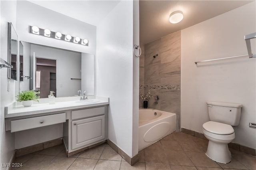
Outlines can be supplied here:
[[209, 121], [203, 124], [203, 128], [207, 130], [208, 132], [214, 133], [214, 134], [232, 134], [234, 133], [234, 129], [232, 126], [219, 123], [219, 122], [213, 122]]

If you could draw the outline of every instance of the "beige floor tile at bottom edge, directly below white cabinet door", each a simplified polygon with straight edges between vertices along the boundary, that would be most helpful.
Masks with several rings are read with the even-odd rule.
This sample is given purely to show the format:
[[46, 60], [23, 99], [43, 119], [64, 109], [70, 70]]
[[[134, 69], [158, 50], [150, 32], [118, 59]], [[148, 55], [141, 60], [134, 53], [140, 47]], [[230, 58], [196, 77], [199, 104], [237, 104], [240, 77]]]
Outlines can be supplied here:
[[68, 170], [93, 170], [97, 162], [97, 159], [77, 158]]

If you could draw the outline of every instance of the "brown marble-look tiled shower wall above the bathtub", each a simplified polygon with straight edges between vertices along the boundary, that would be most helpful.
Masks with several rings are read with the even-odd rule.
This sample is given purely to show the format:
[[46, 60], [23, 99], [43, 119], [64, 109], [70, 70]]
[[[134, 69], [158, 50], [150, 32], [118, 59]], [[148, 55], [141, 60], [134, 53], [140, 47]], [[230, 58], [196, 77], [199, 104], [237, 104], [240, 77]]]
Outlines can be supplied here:
[[140, 92], [158, 95], [158, 104], [153, 98], [148, 107], [176, 113], [176, 130], [180, 130], [180, 31], [140, 46]]

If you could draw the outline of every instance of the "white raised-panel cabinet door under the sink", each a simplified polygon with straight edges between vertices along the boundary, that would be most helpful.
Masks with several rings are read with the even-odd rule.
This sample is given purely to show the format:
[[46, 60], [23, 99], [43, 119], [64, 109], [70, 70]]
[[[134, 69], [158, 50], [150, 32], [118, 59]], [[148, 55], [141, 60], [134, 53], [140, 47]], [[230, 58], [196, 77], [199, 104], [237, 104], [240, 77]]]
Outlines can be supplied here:
[[72, 149], [105, 138], [105, 115], [72, 121]]

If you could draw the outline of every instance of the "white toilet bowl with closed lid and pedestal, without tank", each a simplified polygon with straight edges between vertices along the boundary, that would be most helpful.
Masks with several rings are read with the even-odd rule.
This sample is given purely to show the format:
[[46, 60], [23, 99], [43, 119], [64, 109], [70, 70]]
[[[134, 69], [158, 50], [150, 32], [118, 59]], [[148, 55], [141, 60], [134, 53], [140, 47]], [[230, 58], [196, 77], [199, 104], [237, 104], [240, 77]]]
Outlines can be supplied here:
[[232, 126], [209, 121], [203, 124], [203, 133], [209, 140], [206, 156], [216, 162], [229, 163], [231, 154], [228, 150], [228, 143], [235, 138]]

